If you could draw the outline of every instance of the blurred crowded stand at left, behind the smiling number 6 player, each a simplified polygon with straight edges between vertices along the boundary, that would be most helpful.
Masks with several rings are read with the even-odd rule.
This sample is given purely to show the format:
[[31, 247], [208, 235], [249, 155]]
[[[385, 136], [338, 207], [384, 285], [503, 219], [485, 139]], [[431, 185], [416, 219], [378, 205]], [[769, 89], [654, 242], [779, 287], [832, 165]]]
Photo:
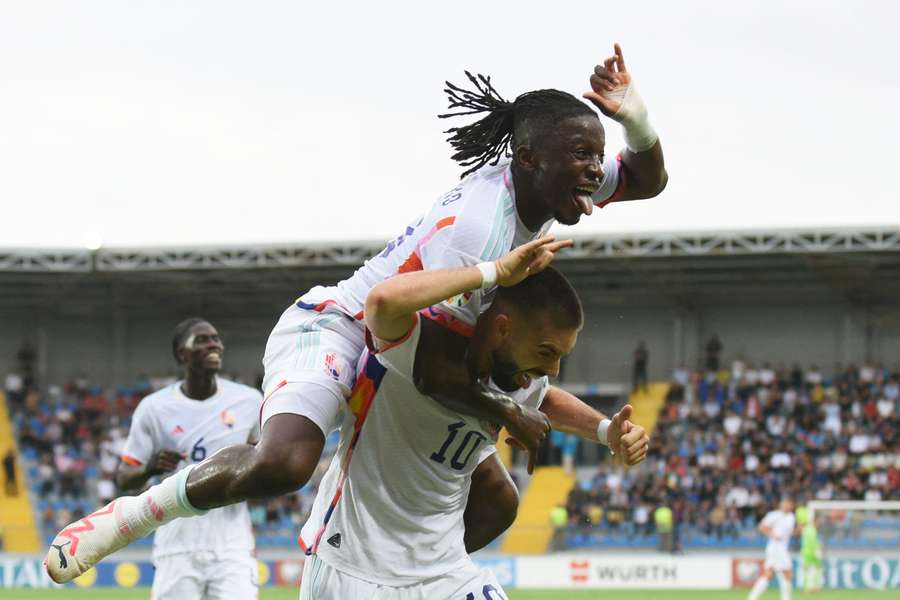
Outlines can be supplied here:
[[[171, 377], [142, 378], [108, 396], [86, 377], [63, 386], [48, 386], [47, 394], [9, 383], [10, 421], [18, 445], [33, 513], [38, 516], [41, 540], [51, 540], [72, 520], [119, 495], [114, 483], [119, 456], [128, 434], [131, 414], [147, 394], [167, 385]], [[2, 416], [2, 415], [0, 415]], [[267, 502], [253, 502], [250, 517], [259, 546], [292, 546], [315, 497], [316, 483], [334, 453], [337, 436], [329, 438], [313, 484], [296, 494]], [[28, 494], [22, 494], [28, 507]], [[31, 517], [31, 510], [26, 511]], [[30, 522], [26, 523], [31, 529]], [[37, 540], [37, 535], [33, 536]], [[152, 537], [139, 542], [149, 544]], [[38, 544], [31, 551], [37, 549]], [[7, 542], [7, 549], [13, 546]]]

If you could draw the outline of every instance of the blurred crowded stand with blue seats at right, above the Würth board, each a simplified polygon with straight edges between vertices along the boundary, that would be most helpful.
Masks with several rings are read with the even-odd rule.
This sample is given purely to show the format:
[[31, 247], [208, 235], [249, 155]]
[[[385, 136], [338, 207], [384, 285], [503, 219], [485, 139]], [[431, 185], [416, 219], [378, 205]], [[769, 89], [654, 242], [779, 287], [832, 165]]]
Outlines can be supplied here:
[[[647, 461], [581, 470], [568, 495], [563, 548], [659, 544], [653, 513], [674, 515], [674, 548], [752, 547], [782, 495], [900, 499], [900, 373], [878, 365], [831, 376], [756, 368], [675, 373]], [[897, 517], [829, 515], [833, 547], [898, 548]], [[830, 539], [834, 538], [834, 539]]]

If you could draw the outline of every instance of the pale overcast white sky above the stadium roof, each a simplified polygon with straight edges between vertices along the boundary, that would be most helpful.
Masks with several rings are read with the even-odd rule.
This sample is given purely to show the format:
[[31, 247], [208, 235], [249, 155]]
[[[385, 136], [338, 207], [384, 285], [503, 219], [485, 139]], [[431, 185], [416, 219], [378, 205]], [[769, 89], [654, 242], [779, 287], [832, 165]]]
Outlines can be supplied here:
[[393, 237], [461, 173], [445, 80], [580, 95], [613, 42], [669, 185], [559, 235], [897, 226], [898, 20], [891, 0], [2, 0], [0, 248]]

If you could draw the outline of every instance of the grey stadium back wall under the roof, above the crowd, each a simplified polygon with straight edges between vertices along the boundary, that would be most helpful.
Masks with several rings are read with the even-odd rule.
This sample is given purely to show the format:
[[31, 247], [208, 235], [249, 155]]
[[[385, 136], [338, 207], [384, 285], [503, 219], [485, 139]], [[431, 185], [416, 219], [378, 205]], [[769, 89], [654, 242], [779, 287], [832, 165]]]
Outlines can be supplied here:
[[[585, 329], [564, 367], [564, 380], [619, 383], [631, 378], [632, 353], [644, 340], [649, 375], [663, 380], [679, 365], [701, 364], [703, 346], [717, 334], [721, 362], [805, 367], [826, 373], [837, 363], [867, 360], [893, 367], [900, 362], [900, 307], [850, 309], [842, 305], [783, 304], [674, 307], [586, 307]], [[252, 382], [262, 372], [266, 338], [278, 314], [235, 318], [202, 312], [226, 344], [225, 371]], [[0, 316], [0, 375], [17, 370], [16, 353], [25, 341], [37, 350], [40, 381], [64, 382], [86, 374], [92, 382], [128, 383], [140, 374], [176, 373], [171, 332], [188, 316], [160, 307], [156, 314], [119, 311], [105, 314], [33, 313]]]

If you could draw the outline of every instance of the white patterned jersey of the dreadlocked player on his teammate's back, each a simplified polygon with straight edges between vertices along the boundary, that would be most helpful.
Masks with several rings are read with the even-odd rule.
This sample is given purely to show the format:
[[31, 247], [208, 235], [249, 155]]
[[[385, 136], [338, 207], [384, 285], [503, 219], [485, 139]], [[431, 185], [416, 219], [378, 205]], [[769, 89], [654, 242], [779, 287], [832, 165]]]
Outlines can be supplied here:
[[[622, 193], [620, 162], [618, 156], [613, 156], [603, 164], [603, 180], [593, 196], [599, 207]], [[553, 223], [552, 219], [547, 221], [538, 231], [525, 227], [516, 210], [510, 163], [501, 161], [478, 170], [438, 198], [431, 210], [410, 223], [349, 279], [331, 287], [315, 287], [297, 305], [316, 310], [334, 306], [361, 319], [369, 290], [388, 277], [494, 261], [512, 248], [543, 236]], [[471, 333], [478, 315], [490, 306], [492, 296], [493, 290], [484, 296], [480, 290], [460, 294], [426, 316], [460, 333]]]

